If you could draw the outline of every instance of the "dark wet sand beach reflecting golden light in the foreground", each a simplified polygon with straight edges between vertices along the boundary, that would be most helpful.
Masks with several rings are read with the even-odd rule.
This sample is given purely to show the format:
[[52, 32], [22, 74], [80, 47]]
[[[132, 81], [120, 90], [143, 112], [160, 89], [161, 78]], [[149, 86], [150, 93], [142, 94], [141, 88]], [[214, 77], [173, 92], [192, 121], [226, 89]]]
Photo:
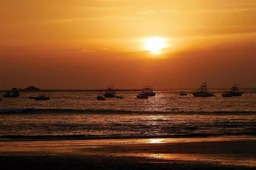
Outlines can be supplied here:
[[256, 138], [1, 141], [0, 169], [256, 169]]

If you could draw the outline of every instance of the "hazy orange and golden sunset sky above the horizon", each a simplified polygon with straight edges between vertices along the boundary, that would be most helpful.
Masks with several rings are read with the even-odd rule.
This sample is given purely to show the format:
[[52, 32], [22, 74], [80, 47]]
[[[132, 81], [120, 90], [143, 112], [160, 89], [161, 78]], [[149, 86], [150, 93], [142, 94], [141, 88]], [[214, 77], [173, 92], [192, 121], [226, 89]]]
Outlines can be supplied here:
[[0, 89], [256, 87], [255, 0], [2, 0], [0, 23]]

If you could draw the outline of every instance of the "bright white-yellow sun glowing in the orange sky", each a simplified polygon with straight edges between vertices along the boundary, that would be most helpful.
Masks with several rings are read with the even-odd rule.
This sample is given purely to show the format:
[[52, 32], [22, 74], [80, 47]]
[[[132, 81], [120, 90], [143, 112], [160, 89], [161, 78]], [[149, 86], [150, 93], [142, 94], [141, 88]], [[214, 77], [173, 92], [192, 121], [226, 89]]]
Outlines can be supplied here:
[[145, 49], [152, 51], [152, 53], [154, 54], [159, 53], [159, 50], [161, 48], [166, 47], [162, 38], [148, 38], [146, 41], [147, 42], [146, 42]]

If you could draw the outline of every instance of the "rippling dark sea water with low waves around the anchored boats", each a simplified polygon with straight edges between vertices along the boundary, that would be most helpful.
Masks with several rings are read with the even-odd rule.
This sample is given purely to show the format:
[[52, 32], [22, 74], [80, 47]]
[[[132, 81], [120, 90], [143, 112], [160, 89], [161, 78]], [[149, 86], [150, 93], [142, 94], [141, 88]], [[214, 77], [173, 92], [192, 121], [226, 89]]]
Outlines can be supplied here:
[[[180, 91], [180, 90], [179, 90]], [[124, 99], [97, 101], [97, 92], [44, 92], [51, 99], [35, 101], [22, 92], [0, 101], [0, 137], [147, 138], [256, 135], [256, 91], [240, 97], [179, 96], [156, 91], [137, 99], [139, 92], [117, 92]]]

